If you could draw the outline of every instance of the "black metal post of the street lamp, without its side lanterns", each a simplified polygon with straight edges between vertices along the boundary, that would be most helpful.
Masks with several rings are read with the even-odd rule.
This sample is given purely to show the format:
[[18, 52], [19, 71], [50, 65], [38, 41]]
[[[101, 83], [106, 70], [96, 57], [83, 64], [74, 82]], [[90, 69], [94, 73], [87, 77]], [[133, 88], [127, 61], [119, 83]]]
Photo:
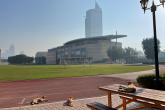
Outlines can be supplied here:
[[153, 15], [153, 31], [154, 31], [154, 51], [155, 51], [155, 73], [156, 73], [156, 86], [159, 87], [160, 77], [159, 77], [159, 59], [158, 59], [158, 44], [157, 44], [157, 34], [156, 34], [156, 5], [152, 4], [151, 12]]

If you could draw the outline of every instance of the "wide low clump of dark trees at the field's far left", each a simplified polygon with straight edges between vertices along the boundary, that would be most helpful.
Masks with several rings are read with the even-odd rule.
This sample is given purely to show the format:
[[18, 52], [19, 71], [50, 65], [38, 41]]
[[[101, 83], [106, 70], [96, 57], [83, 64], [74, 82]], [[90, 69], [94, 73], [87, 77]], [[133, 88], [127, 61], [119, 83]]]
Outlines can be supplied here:
[[26, 55], [16, 55], [8, 58], [10, 64], [31, 64], [33, 63], [34, 58], [28, 57]]

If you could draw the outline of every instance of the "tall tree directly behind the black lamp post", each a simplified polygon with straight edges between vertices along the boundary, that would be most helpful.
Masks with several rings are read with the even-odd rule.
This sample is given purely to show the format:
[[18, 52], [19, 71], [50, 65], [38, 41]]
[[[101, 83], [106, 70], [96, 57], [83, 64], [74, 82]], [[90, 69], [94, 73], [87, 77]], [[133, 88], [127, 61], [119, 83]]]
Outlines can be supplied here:
[[[158, 52], [160, 51], [160, 41], [157, 40], [158, 44]], [[154, 60], [155, 59], [155, 51], [154, 51], [154, 39], [146, 38], [142, 41], [142, 47], [144, 50], [144, 54], [147, 59]]]

